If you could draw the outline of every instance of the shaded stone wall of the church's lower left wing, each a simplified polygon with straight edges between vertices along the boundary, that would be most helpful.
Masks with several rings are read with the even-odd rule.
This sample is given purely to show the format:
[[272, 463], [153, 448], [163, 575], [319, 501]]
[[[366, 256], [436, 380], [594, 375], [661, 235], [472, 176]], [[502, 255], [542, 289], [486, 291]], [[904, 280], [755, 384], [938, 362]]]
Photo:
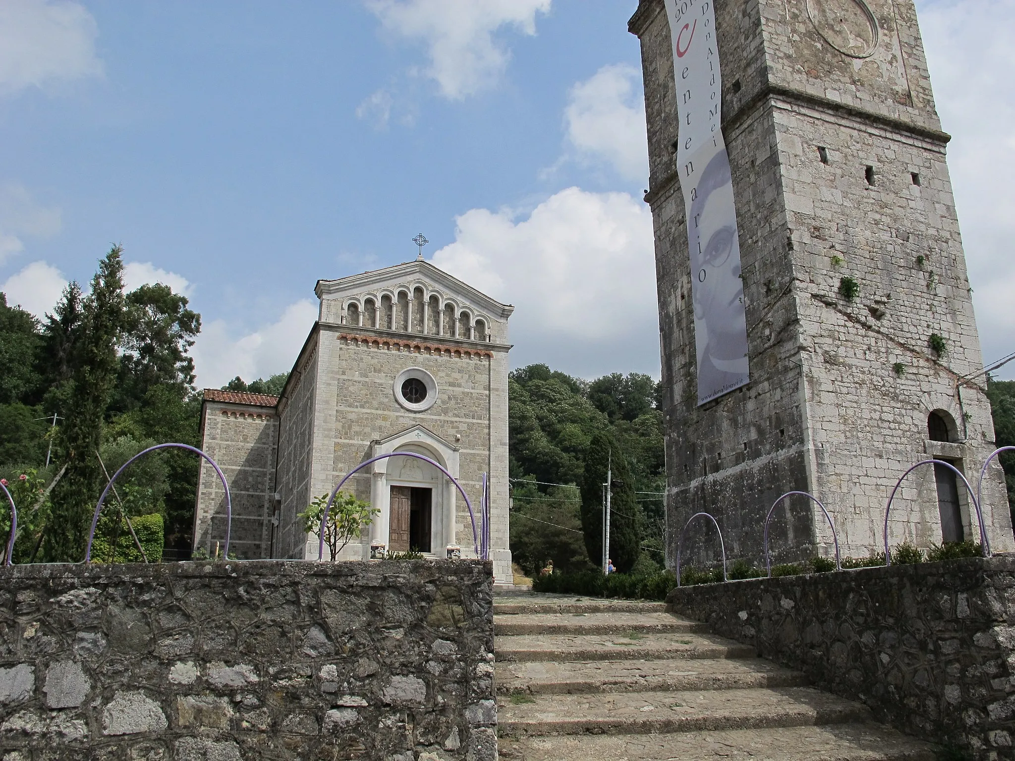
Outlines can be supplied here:
[[[229, 485], [232, 526], [229, 553], [268, 557], [274, 510], [278, 417], [274, 408], [206, 402], [202, 409], [204, 453], [222, 469]], [[225, 543], [225, 491], [218, 474], [201, 459], [194, 549], [214, 555]]]

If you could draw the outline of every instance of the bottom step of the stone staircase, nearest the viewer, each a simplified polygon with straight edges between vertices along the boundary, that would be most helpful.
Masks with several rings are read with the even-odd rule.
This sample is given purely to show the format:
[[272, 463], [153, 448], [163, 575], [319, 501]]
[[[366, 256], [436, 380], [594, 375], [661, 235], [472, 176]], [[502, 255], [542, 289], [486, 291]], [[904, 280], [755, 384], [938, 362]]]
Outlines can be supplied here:
[[780, 727], [671, 735], [501, 740], [505, 761], [935, 761], [934, 749], [875, 723]]

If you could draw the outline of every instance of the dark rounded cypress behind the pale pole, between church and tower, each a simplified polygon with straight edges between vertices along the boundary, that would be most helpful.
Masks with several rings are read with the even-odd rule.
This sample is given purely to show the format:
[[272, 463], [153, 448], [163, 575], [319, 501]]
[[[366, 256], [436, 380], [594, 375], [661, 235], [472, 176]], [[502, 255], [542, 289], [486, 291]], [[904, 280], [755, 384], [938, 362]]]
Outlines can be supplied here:
[[612, 462], [612, 498], [610, 504], [610, 554], [618, 571], [628, 572], [641, 552], [641, 532], [634, 482], [623, 452], [606, 432], [596, 433], [585, 455], [582, 479], [582, 529], [589, 559], [601, 566], [603, 562], [603, 499], [602, 484], [606, 483], [607, 468]]

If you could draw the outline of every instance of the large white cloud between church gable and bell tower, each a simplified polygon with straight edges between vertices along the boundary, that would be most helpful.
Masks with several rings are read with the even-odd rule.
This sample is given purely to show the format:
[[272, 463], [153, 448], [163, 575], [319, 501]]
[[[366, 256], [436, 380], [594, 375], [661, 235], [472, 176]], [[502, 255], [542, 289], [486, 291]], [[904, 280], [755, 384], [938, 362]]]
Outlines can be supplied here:
[[514, 302], [513, 363], [546, 361], [593, 375], [658, 375], [652, 215], [626, 193], [568, 188], [528, 219], [473, 209], [433, 264]]

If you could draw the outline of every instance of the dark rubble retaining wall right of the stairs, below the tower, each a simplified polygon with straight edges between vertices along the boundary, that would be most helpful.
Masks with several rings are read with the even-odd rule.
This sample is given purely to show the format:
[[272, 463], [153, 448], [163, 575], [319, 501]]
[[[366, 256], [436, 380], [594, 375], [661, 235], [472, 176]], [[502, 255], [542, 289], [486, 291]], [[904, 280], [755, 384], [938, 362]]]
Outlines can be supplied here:
[[903, 732], [1015, 758], [1015, 557], [684, 586], [667, 602]]

